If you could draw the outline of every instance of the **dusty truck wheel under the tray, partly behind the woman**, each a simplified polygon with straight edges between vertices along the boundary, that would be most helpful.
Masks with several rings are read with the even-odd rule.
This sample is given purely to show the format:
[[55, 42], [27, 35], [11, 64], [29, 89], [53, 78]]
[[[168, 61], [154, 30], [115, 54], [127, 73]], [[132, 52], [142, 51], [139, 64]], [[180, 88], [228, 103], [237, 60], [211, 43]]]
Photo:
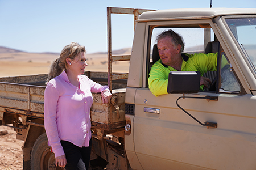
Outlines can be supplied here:
[[31, 170], [57, 170], [63, 169], [56, 167], [55, 155], [50, 151], [48, 146], [48, 138], [43, 133], [36, 139], [31, 152]]

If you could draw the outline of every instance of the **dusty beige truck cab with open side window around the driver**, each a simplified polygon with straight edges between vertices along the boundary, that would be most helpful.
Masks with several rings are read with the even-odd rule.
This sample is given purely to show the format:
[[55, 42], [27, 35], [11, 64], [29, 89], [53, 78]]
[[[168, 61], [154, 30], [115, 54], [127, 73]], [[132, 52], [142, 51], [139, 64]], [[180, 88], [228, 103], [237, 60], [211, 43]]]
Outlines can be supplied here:
[[[125, 96], [125, 150], [132, 169], [256, 167], [255, 27], [255, 9], [158, 10], [139, 17]], [[185, 53], [218, 53], [217, 71], [204, 74], [213, 82], [209, 89], [152, 95], [155, 37], [167, 29], [183, 36]]]

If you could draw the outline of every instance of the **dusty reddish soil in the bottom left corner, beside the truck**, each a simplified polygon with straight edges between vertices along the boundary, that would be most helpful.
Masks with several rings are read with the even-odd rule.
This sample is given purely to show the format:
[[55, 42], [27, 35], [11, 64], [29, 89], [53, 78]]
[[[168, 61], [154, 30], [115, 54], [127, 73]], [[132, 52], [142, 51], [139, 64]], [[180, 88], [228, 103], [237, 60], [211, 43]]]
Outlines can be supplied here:
[[22, 169], [22, 146], [24, 141], [16, 139], [16, 133], [12, 128], [0, 126], [0, 169]]

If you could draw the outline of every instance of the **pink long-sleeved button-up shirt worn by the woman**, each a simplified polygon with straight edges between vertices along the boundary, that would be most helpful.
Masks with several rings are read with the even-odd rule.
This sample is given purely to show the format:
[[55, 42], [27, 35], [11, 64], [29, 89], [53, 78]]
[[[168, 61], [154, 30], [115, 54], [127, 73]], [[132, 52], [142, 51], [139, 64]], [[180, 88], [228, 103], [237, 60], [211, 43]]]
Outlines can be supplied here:
[[48, 82], [44, 92], [44, 127], [55, 157], [64, 155], [60, 140], [79, 147], [89, 146], [92, 92], [109, 91], [108, 86], [101, 86], [85, 75], [78, 78], [79, 88], [69, 82], [63, 71]]

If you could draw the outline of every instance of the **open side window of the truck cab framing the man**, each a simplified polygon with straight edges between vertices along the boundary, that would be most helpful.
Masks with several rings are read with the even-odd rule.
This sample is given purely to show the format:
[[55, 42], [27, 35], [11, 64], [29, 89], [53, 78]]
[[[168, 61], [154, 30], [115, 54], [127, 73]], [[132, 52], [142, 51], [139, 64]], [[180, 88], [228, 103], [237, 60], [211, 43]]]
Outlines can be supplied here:
[[148, 45], [150, 48], [148, 51], [148, 53], [150, 53], [148, 57], [148, 74], [152, 65], [159, 60], [159, 57], [155, 57], [158, 53], [156, 37], [168, 29], [172, 29], [183, 37], [185, 44], [184, 53], [218, 53], [217, 71], [208, 71], [203, 75], [212, 81], [210, 88], [205, 89], [203, 92], [236, 94], [241, 92], [241, 86], [236, 78], [232, 65], [230, 65], [220, 42], [209, 25], [195, 24], [193, 27], [152, 27], [150, 40], [148, 40], [150, 44]]

